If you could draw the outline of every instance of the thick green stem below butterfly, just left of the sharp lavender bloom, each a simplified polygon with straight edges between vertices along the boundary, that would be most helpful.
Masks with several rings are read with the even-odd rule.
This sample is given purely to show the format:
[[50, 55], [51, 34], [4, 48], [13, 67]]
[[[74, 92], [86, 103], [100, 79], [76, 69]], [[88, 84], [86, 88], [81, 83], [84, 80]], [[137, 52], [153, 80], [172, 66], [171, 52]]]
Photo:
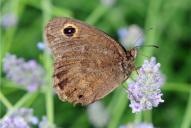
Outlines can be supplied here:
[[110, 112], [111, 119], [108, 124], [108, 128], [116, 128], [118, 126], [120, 118], [122, 117], [128, 103], [127, 94], [123, 91], [122, 87], [118, 88], [116, 93], [118, 94], [114, 95], [116, 96], [114, 99], [117, 100], [115, 100], [115, 105], [113, 106], [112, 112]]

